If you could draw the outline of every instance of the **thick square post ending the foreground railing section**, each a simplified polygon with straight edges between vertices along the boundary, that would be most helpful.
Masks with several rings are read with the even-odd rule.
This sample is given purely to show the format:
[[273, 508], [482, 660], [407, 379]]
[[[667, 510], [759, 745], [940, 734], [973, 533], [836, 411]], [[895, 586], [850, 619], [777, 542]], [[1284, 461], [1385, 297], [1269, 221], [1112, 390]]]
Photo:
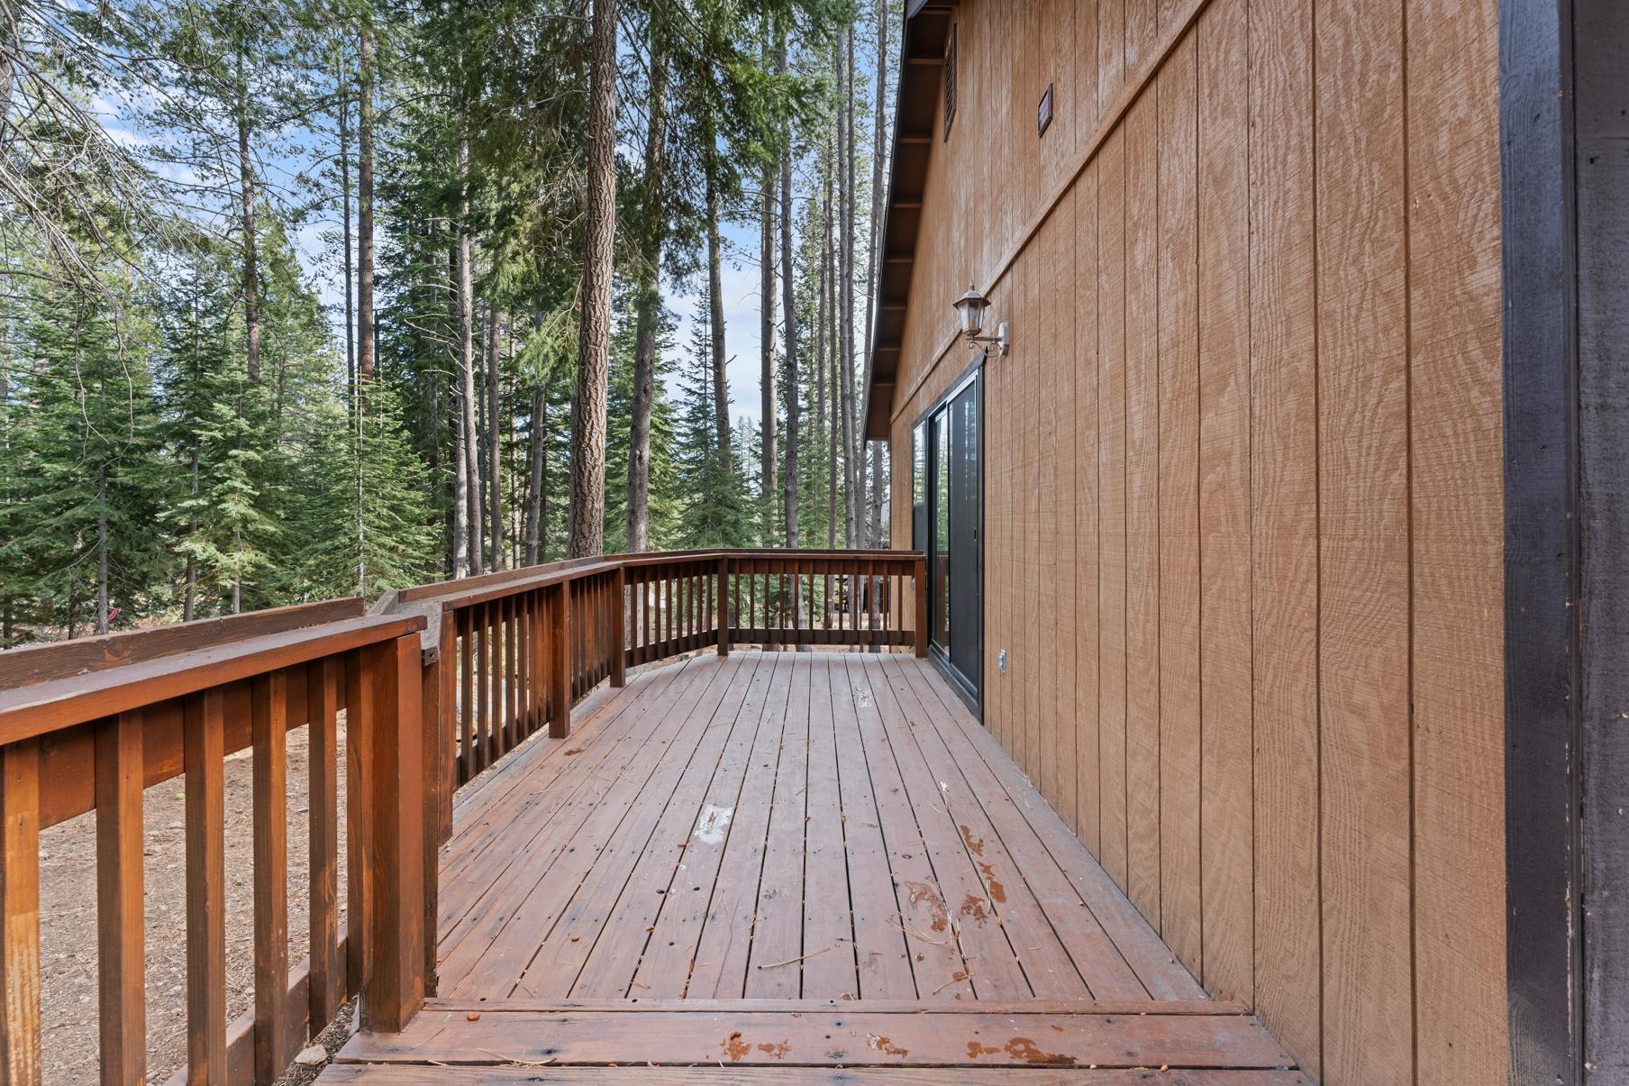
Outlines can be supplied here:
[[373, 686], [370, 1029], [401, 1032], [424, 1006], [424, 740], [419, 636], [363, 652]]

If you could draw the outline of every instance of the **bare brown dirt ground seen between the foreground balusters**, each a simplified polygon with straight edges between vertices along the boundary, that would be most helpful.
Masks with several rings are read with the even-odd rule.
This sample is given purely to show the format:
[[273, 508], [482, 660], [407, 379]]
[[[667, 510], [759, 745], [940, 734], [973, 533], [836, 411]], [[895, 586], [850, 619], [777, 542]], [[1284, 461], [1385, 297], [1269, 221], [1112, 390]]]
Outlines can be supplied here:
[[[340, 812], [345, 797], [345, 731], [339, 726]], [[254, 1001], [254, 796], [249, 750], [226, 758], [226, 1001], [228, 1021]], [[306, 729], [288, 732], [288, 960], [310, 952], [310, 806]], [[165, 1081], [187, 1058], [186, 794], [182, 778], [143, 796], [147, 879], [147, 1066]], [[345, 823], [339, 825], [339, 905], [345, 908]], [[96, 1081], [96, 815], [85, 814], [41, 833], [41, 1029], [46, 1083]], [[349, 1011], [324, 1032], [332, 1052]], [[308, 1083], [318, 1068], [296, 1068], [283, 1083]]]

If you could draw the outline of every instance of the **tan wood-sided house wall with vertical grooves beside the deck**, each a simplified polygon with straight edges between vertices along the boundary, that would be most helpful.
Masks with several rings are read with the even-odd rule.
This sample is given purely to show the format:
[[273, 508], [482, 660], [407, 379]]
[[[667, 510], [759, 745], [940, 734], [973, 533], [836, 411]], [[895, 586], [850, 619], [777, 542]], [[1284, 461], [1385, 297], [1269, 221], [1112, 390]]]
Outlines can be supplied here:
[[986, 726], [1321, 1081], [1504, 1081], [1494, 0], [955, 20], [891, 519], [971, 277]]

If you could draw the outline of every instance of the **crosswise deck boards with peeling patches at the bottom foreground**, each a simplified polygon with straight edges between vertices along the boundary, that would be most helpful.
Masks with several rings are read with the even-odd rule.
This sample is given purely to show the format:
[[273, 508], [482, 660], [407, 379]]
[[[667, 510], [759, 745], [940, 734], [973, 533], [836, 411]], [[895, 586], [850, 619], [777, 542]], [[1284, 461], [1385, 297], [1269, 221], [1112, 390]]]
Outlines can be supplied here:
[[[1124, 1006], [1124, 1004], [1122, 1004]], [[1253, 1016], [1236, 1006], [1184, 1004], [1161, 1013], [1160, 1003], [1139, 1009], [1101, 1004], [1015, 1004], [992, 1011], [977, 1004], [865, 1003], [829, 1008], [754, 1009], [744, 1001], [696, 1001], [661, 1009], [432, 1006], [401, 1034], [358, 1034], [340, 1050], [321, 1081], [365, 1081], [360, 1065], [388, 1065], [391, 1081], [407, 1068], [428, 1066], [438, 1081], [456, 1068], [481, 1070], [471, 1081], [572, 1081], [536, 1078], [539, 1070], [619, 1066], [748, 1068], [966, 1068], [987, 1076], [999, 1068], [1248, 1070], [1285, 1071], [1293, 1060]], [[347, 1066], [350, 1065], [350, 1066]], [[352, 1070], [357, 1068], [357, 1070]], [[521, 1076], [492, 1078], [489, 1071]], [[525, 1075], [533, 1075], [531, 1079]], [[487, 1075], [487, 1078], [482, 1078]], [[593, 1071], [596, 1081], [603, 1070]], [[358, 1078], [362, 1076], [362, 1078]], [[373, 1079], [384, 1081], [384, 1079]], [[428, 1079], [425, 1079], [428, 1081]], [[720, 1079], [707, 1079], [720, 1081]], [[723, 1079], [730, 1081], [730, 1079]], [[749, 1081], [749, 1079], [741, 1079]], [[756, 1081], [756, 1079], [751, 1079]], [[828, 1079], [821, 1079], [828, 1081]], [[841, 1078], [836, 1081], [842, 1081]], [[904, 1081], [911, 1081], [907, 1076]], [[933, 1081], [945, 1081], [943, 1075]], [[1047, 1081], [1047, 1079], [1041, 1079]], [[1074, 1078], [1070, 1081], [1080, 1081]], [[1161, 1081], [1104, 1078], [1103, 1081]], [[1298, 1076], [1196, 1078], [1171, 1083], [1297, 1083]]]

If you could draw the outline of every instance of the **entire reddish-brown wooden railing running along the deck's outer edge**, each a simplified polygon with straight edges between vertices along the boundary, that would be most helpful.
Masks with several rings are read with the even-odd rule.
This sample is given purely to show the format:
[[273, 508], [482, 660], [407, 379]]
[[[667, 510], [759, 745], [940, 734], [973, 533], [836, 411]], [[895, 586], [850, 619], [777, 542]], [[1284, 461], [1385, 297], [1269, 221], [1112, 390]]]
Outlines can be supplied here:
[[[368, 615], [334, 600], [0, 652], [0, 1079], [42, 1075], [42, 828], [96, 814], [101, 1079], [145, 1081], [142, 789], [184, 778], [173, 1081], [270, 1083], [344, 1000], [389, 1032], [433, 993], [437, 850], [461, 784], [542, 727], [569, 735], [572, 706], [632, 665], [753, 642], [924, 656], [924, 585], [909, 551], [619, 554], [404, 589]], [[311, 938], [290, 969], [285, 745], [301, 726]], [[223, 762], [251, 747], [254, 1008], [228, 1022]]]

